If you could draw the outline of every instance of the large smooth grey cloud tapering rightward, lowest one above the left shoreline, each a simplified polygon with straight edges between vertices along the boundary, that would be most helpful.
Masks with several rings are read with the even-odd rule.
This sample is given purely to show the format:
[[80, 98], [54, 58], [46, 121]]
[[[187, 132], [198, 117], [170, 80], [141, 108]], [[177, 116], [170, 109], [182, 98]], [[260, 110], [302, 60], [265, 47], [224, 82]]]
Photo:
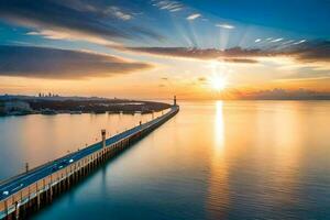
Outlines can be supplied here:
[[80, 79], [145, 70], [152, 66], [103, 54], [0, 45], [0, 76]]

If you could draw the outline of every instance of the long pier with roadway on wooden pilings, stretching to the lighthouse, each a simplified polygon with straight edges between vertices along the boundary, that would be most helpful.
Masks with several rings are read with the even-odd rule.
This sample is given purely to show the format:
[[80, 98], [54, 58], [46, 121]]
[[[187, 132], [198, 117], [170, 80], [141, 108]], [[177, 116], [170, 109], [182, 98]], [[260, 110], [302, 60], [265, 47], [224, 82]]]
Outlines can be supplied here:
[[165, 114], [109, 139], [102, 130], [101, 142], [0, 183], [0, 219], [29, 218], [178, 111], [175, 103]]

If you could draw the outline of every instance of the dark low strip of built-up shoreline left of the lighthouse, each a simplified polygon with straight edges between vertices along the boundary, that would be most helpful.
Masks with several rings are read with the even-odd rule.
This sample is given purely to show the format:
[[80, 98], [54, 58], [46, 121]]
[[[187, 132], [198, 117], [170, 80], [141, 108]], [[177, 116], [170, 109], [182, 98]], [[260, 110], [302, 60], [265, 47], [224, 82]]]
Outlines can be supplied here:
[[153, 113], [169, 108], [170, 105], [157, 101], [102, 98], [66, 98], [66, 97], [11, 97], [0, 99], [0, 117], [62, 113]]

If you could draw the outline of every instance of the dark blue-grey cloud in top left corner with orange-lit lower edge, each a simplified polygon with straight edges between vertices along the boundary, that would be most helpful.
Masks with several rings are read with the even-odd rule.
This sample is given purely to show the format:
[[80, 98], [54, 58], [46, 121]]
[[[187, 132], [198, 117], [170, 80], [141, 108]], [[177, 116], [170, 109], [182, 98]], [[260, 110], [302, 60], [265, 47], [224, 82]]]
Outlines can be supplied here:
[[[119, 7], [97, 4], [97, 1], [90, 1], [89, 4], [80, 0], [0, 1], [0, 18], [38, 32], [52, 31], [95, 43], [113, 44], [121, 40], [145, 37], [163, 40], [162, 35], [142, 24], [135, 26], [128, 23], [133, 16]], [[118, 20], [125, 22], [119, 23]]]

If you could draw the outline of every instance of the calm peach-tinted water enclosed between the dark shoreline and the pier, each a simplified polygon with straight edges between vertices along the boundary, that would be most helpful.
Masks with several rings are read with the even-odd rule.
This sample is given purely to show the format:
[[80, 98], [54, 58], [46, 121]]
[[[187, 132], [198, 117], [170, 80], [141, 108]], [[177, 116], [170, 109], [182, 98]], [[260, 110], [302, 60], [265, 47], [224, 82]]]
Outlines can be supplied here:
[[0, 117], [0, 180], [101, 141], [102, 129], [109, 138], [160, 114]]

